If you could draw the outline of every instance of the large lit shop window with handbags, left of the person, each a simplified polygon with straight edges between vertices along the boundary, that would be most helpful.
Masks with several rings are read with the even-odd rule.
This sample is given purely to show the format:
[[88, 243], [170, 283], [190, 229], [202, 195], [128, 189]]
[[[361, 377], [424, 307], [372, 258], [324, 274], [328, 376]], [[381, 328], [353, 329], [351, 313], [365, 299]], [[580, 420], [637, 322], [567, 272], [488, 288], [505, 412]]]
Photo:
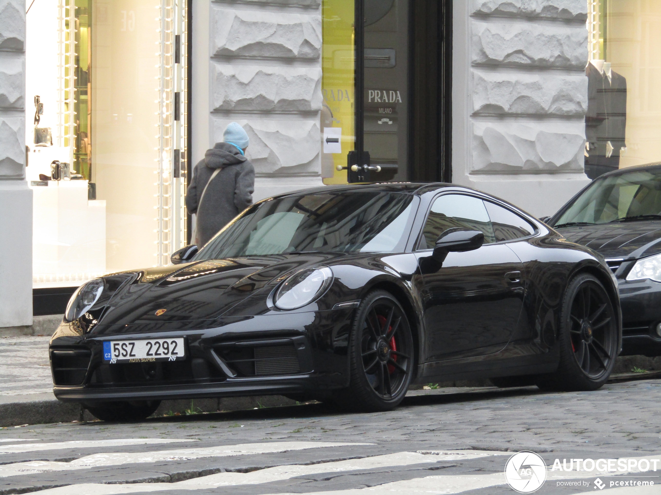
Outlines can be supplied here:
[[169, 263], [186, 244], [186, 5], [44, 0], [26, 25], [34, 287]]

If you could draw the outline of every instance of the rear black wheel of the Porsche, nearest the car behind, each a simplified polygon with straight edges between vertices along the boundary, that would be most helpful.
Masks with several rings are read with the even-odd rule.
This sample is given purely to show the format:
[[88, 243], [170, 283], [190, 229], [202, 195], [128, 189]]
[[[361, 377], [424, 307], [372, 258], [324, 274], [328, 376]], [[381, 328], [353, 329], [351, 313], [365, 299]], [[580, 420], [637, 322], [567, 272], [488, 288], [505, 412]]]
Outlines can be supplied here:
[[561, 310], [560, 364], [537, 385], [554, 390], [596, 390], [608, 380], [619, 350], [617, 314], [592, 275], [576, 276]]

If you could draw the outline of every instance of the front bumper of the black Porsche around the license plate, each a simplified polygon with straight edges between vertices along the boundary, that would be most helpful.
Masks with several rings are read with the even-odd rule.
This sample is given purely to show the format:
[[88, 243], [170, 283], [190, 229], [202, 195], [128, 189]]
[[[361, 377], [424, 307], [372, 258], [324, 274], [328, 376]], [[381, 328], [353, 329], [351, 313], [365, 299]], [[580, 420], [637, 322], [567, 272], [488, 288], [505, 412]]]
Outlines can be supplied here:
[[[348, 385], [347, 345], [354, 308], [220, 318], [190, 323], [100, 325], [80, 335], [62, 323], [50, 343], [54, 394], [99, 403], [245, 395], [323, 393]], [[207, 325], [208, 326], [208, 325]], [[110, 364], [104, 341], [183, 337], [186, 360]]]

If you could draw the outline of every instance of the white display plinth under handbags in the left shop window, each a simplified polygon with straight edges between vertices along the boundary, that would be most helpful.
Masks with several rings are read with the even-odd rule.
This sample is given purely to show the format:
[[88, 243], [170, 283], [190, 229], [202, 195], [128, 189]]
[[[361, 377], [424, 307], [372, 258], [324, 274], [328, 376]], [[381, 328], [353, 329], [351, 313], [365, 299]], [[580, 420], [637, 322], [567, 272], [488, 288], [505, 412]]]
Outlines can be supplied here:
[[78, 286], [106, 271], [106, 202], [87, 181], [47, 181], [34, 193], [33, 287]]

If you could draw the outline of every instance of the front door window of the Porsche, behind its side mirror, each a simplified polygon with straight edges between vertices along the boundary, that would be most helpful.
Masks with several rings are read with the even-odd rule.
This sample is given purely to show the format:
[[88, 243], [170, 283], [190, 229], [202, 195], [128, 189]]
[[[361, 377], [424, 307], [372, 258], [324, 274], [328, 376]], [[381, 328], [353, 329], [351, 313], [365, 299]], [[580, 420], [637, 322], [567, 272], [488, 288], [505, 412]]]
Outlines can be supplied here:
[[495, 242], [496, 239], [481, 199], [463, 194], [446, 194], [434, 201], [422, 228], [418, 249], [434, 248], [438, 236], [451, 227], [479, 230], [485, 234], [485, 244]]

